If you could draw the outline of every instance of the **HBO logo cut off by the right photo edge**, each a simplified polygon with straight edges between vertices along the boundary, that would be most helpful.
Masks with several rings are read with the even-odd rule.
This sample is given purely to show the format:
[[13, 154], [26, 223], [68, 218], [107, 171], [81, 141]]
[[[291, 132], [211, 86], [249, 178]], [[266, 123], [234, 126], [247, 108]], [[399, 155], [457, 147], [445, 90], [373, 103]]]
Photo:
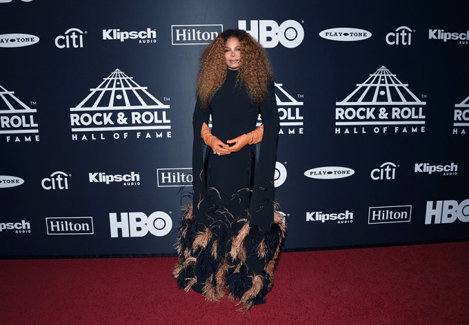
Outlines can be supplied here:
[[457, 219], [469, 222], [469, 199], [460, 204], [455, 200], [427, 201], [425, 224], [452, 224]]

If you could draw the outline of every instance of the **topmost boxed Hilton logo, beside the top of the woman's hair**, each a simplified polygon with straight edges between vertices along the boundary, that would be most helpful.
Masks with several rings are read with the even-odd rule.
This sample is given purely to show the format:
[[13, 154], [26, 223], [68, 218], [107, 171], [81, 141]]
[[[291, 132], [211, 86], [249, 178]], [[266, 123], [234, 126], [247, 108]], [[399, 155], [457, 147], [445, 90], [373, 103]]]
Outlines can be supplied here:
[[171, 25], [172, 45], [208, 44], [223, 32], [223, 25]]

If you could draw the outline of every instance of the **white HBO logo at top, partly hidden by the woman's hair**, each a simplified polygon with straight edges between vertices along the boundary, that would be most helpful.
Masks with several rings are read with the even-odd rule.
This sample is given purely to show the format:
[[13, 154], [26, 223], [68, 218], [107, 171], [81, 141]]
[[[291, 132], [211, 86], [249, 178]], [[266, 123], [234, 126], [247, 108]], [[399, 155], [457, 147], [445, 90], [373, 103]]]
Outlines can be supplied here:
[[279, 42], [286, 48], [296, 48], [305, 37], [303, 26], [295, 20], [283, 21], [280, 26], [273, 20], [251, 20], [250, 30], [246, 20], [239, 20], [238, 28], [246, 30], [264, 48], [275, 48]]

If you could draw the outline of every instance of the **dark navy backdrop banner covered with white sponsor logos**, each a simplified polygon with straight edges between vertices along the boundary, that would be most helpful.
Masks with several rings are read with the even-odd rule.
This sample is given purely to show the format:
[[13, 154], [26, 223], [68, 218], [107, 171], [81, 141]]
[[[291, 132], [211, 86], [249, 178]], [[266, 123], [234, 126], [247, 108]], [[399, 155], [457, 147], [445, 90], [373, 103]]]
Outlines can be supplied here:
[[174, 252], [228, 28], [275, 72], [285, 249], [468, 239], [469, 4], [440, 2], [0, 0], [1, 257]]

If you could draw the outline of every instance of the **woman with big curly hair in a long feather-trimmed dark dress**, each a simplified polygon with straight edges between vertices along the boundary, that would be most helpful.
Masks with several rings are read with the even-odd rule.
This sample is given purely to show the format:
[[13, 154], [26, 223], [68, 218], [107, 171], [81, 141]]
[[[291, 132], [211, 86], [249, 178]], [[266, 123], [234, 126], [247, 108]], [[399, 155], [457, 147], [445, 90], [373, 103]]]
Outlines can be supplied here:
[[186, 292], [217, 301], [229, 291], [248, 311], [265, 302], [286, 230], [275, 211], [279, 113], [266, 51], [244, 30], [222, 32], [201, 56], [197, 95], [193, 202], [173, 274]]

